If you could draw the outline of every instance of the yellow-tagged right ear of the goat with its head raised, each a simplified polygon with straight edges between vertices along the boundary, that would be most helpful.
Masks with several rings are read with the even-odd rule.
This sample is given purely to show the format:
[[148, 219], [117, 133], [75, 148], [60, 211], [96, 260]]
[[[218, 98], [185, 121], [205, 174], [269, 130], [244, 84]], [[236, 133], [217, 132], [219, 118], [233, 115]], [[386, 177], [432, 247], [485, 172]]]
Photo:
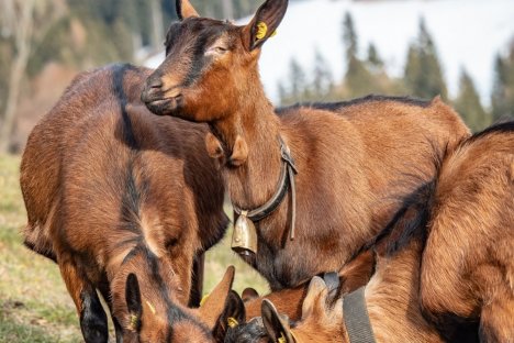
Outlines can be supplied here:
[[243, 30], [245, 45], [248, 51], [260, 47], [275, 34], [286, 14], [289, 0], [267, 0], [257, 10], [252, 22]]

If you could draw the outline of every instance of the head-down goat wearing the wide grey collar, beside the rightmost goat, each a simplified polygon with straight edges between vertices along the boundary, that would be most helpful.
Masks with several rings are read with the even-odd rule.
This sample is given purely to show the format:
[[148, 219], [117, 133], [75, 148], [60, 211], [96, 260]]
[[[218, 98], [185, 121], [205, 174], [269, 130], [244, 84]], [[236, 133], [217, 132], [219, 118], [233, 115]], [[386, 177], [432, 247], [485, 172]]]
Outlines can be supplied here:
[[[375, 248], [376, 272], [366, 286], [365, 300], [377, 342], [444, 342], [420, 308], [420, 264], [432, 185], [412, 197], [412, 203], [400, 211], [400, 220], [392, 223], [392, 232]], [[291, 328], [287, 318], [266, 300], [262, 321], [268, 340], [260, 342], [350, 343], [343, 301], [329, 292], [321, 278], [313, 278], [302, 306], [302, 320]]]

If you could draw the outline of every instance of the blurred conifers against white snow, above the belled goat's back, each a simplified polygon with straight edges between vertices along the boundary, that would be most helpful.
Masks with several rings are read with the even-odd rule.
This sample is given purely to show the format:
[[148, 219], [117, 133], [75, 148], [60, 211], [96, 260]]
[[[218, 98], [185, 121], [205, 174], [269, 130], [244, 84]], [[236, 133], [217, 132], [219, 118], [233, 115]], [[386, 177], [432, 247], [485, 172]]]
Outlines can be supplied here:
[[[420, 20], [417, 38], [406, 52], [406, 63], [401, 78], [392, 78], [387, 74], [386, 63], [372, 43], [368, 46], [365, 56], [359, 55], [358, 33], [350, 13], [344, 13], [342, 25], [342, 43], [345, 51], [345, 56], [342, 57], [347, 66], [343, 78], [334, 81], [328, 66], [323, 67], [323, 73], [316, 67], [305, 73], [298, 62], [292, 60], [289, 82], [280, 84], [280, 100], [283, 104], [349, 99], [368, 93], [412, 96], [423, 99], [440, 96], [454, 103], [472, 131], [482, 130], [500, 119], [514, 118], [514, 43], [506, 56], [499, 55], [496, 58], [496, 79], [491, 112], [489, 112], [481, 103], [473, 80], [463, 69], [458, 93], [455, 99], [449, 99], [437, 47], [423, 19]], [[324, 60], [319, 52], [316, 54], [315, 65]], [[313, 77], [309, 78], [309, 75]]]

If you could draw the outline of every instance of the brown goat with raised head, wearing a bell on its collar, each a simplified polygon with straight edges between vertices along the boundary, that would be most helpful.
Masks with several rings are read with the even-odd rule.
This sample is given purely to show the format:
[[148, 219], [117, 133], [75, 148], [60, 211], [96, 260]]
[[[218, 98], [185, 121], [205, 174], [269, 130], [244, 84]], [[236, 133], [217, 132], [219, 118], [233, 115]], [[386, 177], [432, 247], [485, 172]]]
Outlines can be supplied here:
[[[468, 136], [438, 98], [367, 97], [275, 111], [257, 63], [287, 0], [268, 0], [248, 25], [199, 18], [178, 0], [179, 23], [166, 38], [166, 60], [147, 79], [142, 99], [157, 114], [208, 122], [208, 151], [223, 163], [239, 209], [258, 208], [276, 192], [280, 139], [298, 175], [297, 235], [290, 240], [292, 197], [256, 223], [258, 251], [244, 256], [272, 290], [339, 270], [389, 222], [400, 199], [432, 179], [433, 144], [451, 148]], [[388, 201], [389, 200], [389, 201]]]

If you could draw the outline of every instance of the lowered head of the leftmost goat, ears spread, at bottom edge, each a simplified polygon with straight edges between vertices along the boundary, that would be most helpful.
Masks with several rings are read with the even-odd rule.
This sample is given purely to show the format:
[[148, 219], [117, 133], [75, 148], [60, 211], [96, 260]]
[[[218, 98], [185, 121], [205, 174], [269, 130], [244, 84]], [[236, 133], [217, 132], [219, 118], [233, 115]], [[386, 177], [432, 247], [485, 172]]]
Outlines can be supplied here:
[[[231, 290], [234, 267], [230, 267], [222, 281], [199, 309], [188, 309], [161, 294], [156, 300], [148, 300], [152, 290], [139, 283], [131, 273], [126, 278], [123, 316], [116, 319], [123, 324], [123, 342], [168, 343], [168, 342], [219, 342], [228, 328], [228, 318], [244, 321], [243, 300]], [[154, 289], [155, 292], [155, 289]], [[146, 294], [146, 296], [145, 296]]]

